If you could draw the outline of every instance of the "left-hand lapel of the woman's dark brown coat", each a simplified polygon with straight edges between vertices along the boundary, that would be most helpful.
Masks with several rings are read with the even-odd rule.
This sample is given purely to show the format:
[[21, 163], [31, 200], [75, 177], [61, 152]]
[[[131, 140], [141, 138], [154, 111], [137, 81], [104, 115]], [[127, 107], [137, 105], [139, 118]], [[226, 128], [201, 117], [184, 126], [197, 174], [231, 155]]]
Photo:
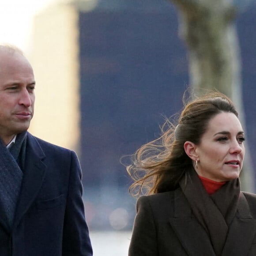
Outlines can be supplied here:
[[170, 218], [170, 223], [189, 256], [215, 256], [206, 230], [192, 215], [191, 207], [180, 189], [175, 191], [174, 217]]

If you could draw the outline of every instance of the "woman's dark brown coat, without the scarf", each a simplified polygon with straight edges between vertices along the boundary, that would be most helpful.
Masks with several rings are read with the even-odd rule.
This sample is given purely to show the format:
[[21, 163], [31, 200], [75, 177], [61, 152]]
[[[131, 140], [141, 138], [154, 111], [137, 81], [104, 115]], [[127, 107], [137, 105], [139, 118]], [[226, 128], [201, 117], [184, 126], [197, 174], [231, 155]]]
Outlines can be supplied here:
[[[141, 196], [129, 256], [215, 256], [181, 189]], [[256, 195], [241, 192], [222, 256], [256, 256]]]

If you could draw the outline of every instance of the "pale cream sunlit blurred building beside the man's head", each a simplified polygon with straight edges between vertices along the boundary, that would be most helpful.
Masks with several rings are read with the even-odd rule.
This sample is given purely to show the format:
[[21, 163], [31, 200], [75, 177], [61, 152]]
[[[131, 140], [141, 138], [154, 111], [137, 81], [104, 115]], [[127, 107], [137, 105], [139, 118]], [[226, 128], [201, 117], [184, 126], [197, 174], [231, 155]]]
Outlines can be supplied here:
[[79, 151], [78, 12], [56, 3], [34, 18], [30, 56], [36, 87], [30, 131], [45, 140]]

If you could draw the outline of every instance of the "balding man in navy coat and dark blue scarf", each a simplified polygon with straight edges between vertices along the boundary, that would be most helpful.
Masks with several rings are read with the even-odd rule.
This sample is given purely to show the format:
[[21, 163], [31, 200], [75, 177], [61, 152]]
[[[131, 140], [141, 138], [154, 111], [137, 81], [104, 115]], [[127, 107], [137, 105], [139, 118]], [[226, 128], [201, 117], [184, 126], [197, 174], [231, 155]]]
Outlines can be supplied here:
[[32, 136], [33, 69], [0, 45], [0, 256], [91, 256], [73, 151]]

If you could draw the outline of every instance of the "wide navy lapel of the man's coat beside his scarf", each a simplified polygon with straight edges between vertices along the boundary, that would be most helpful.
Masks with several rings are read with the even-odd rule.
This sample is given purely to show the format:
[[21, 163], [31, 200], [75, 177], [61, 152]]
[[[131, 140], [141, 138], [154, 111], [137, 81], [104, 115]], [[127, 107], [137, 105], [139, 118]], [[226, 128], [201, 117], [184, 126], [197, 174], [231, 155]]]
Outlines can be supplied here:
[[36, 198], [45, 177], [46, 166], [42, 162], [45, 154], [38, 141], [28, 133], [23, 183], [16, 208], [14, 227]]

